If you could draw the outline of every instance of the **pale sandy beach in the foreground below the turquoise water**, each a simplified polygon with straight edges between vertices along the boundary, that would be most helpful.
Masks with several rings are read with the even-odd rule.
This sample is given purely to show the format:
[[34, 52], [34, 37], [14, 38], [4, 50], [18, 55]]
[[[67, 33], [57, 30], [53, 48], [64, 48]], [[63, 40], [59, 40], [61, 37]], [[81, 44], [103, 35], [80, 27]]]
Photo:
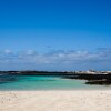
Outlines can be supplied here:
[[0, 91], [0, 111], [111, 111], [111, 91]]

